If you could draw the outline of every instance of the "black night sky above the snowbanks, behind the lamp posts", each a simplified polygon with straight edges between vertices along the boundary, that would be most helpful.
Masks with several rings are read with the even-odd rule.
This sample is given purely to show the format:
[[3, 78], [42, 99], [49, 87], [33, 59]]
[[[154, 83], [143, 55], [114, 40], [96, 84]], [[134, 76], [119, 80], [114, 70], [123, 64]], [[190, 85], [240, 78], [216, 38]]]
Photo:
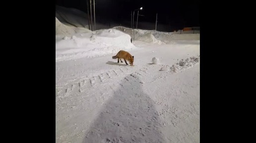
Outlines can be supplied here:
[[[56, 4], [87, 13], [86, 0], [56, 0]], [[141, 6], [139, 14], [143, 16], [139, 16], [139, 21], [155, 23], [158, 13], [159, 24], [176, 28], [199, 27], [199, 0], [95, 0], [96, 22], [115, 21], [126, 25], [128, 22], [124, 21], [130, 21], [131, 11]], [[137, 11], [134, 21], [136, 16]]]

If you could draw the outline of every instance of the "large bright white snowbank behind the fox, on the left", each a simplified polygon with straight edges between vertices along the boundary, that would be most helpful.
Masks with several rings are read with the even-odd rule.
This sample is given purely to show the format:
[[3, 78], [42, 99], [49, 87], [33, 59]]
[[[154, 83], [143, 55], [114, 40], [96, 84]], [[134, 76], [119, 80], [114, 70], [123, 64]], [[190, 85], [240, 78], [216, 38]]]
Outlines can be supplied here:
[[80, 35], [65, 36], [56, 42], [56, 62], [82, 57], [116, 54], [119, 50], [132, 50], [130, 36], [115, 29], [98, 30]]

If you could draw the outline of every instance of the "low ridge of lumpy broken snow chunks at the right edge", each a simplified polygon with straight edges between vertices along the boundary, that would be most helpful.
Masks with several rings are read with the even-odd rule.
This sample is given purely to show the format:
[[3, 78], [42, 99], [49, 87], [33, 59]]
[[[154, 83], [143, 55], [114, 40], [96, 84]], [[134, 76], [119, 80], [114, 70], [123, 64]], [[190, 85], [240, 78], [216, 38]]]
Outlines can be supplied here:
[[188, 69], [190, 67], [193, 67], [195, 64], [199, 63], [200, 55], [197, 57], [192, 56], [190, 58], [187, 58], [186, 60], [182, 59], [176, 64], [172, 65], [171, 71], [172, 72], [178, 72], [178, 71], [184, 71], [185, 69]]

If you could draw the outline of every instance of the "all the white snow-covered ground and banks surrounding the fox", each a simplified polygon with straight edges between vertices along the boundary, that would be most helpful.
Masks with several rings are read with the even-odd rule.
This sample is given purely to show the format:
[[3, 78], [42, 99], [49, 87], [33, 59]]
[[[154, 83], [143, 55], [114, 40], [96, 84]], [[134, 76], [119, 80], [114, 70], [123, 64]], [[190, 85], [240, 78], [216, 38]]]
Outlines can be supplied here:
[[[56, 143], [200, 142], [200, 34], [135, 30], [130, 43], [129, 28], [77, 21], [56, 18]], [[112, 59], [121, 49], [134, 66]]]

